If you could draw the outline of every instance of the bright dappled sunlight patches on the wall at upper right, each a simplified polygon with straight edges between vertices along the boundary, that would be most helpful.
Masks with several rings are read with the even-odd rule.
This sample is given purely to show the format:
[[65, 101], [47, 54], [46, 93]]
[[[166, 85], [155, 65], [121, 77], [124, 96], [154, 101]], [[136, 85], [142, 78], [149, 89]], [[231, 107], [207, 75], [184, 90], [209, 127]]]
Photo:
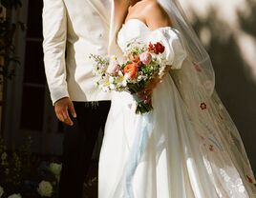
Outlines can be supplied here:
[[[251, 75], [256, 81], [256, 40], [255, 35], [252, 36], [242, 29], [239, 20], [239, 14], [243, 14], [246, 18], [252, 14], [252, 10], [248, 1], [245, 0], [180, 0], [181, 6], [191, 22], [195, 22], [196, 16], [200, 19], [207, 18], [210, 10], [216, 11], [216, 17], [226, 25], [227, 35], [234, 35], [236, 43], [240, 48], [240, 52], [249, 66]], [[252, 1], [253, 2], [253, 1]], [[249, 17], [248, 17], [249, 18]], [[225, 35], [224, 34], [224, 35]], [[211, 32], [207, 28], [200, 30], [200, 38], [203, 45], [207, 48], [211, 41]], [[220, 37], [220, 39], [223, 39]]]

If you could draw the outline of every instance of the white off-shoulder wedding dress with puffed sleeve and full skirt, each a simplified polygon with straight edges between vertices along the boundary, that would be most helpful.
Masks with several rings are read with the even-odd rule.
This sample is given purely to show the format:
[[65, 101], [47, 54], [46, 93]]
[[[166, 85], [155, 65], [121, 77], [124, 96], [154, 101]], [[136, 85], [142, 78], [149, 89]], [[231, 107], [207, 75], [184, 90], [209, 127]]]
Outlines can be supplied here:
[[[185, 52], [174, 29], [153, 31], [130, 19], [118, 32], [117, 43], [125, 49], [134, 39], [146, 42], [152, 34], [156, 40], [167, 39], [173, 68], [181, 68]], [[232, 138], [227, 139], [222, 129], [212, 129], [210, 122], [193, 123], [171, 75], [154, 90], [152, 102], [154, 110], [139, 115], [129, 93], [113, 93], [99, 159], [99, 198], [255, 196], [246, 158], [236, 160]], [[203, 117], [210, 108], [206, 105], [199, 105]]]

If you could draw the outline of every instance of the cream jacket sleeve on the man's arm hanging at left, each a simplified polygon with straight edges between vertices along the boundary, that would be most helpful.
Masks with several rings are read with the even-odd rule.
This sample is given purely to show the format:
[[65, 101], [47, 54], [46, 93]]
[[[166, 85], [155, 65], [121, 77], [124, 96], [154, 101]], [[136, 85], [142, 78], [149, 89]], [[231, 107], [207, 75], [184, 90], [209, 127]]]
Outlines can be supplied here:
[[45, 72], [54, 104], [69, 97], [65, 64], [67, 16], [63, 0], [44, 0], [42, 17]]

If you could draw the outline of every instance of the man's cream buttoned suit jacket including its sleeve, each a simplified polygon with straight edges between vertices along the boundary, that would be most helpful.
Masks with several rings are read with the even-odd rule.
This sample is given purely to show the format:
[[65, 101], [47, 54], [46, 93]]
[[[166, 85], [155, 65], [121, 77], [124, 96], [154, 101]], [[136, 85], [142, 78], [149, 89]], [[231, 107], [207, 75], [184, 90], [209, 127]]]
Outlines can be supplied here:
[[[53, 103], [109, 100], [96, 89], [94, 60], [113, 48], [114, 0], [44, 0], [43, 49], [45, 71]], [[112, 20], [111, 20], [112, 19]]]

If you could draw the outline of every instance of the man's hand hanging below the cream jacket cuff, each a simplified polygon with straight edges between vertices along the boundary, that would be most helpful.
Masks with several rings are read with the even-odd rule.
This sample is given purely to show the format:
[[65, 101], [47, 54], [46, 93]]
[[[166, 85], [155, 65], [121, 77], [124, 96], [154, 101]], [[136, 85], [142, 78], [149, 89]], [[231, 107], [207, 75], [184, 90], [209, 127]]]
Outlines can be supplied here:
[[[61, 98], [54, 103], [54, 110], [58, 120], [61, 122], [73, 126], [73, 121], [70, 118], [70, 113], [73, 117], [76, 117], [75, 109], [73, 106], [73, 102], [70, 98], [65, 97]], [[69, 113], [70, 112], [70, 113]]]

